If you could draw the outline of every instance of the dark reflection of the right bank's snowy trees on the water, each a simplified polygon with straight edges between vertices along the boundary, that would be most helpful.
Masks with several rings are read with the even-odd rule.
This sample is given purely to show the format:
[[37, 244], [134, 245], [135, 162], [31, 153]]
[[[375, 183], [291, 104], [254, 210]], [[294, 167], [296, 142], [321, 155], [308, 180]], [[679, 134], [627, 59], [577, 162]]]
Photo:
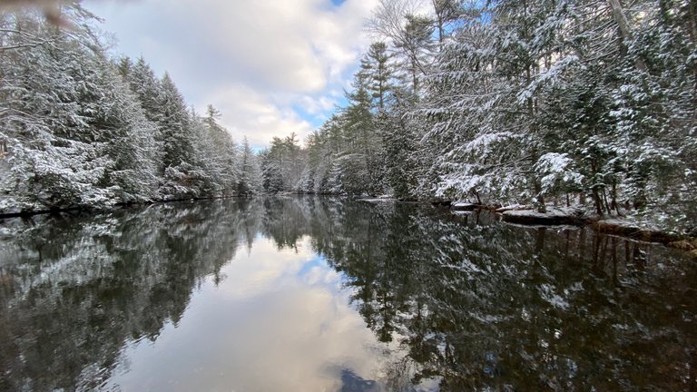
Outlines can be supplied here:
[[407, 350], [414, 366], [393, 367], [404, 369], [395, 379], [435, 378], [440, 390], [694, 385], [697, 277], [672, 250], [486, 211], [324, 203], [330, 220], [309, 223], [314, 246], [347, 277], [368, 328]]

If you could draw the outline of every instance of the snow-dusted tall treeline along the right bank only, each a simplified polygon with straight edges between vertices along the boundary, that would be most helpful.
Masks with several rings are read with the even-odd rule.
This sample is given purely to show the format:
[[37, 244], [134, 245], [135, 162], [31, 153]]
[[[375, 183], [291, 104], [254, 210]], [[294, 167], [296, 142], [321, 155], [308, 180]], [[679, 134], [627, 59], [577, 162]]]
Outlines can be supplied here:
[[[413, 3], [381, 0], [348, 103], [302, 150], [274, 142], [289, 153], [267, 154], [267, 191], [580, 201], [693, 224], [694, 0]], [[302, 171], [280, 176], [291, 155]]]

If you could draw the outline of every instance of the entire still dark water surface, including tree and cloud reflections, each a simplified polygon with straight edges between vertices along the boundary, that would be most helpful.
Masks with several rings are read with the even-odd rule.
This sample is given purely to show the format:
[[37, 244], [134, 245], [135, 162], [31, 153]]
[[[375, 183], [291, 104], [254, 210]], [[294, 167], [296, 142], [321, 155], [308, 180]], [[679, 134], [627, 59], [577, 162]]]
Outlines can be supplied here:
[[695, 390], [697, 266], [335, 199], [0, 221], [0, 390]]

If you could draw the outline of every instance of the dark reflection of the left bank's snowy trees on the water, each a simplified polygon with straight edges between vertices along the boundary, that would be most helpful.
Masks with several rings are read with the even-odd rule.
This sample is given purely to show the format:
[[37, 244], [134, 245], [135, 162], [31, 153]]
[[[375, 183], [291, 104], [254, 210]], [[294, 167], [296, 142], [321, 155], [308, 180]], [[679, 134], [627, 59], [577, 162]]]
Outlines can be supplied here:
[[110, 376], [126, 340], [176, 325], [260, 214], [221, 201], [3, 223], [0, 389], [84, 390]]

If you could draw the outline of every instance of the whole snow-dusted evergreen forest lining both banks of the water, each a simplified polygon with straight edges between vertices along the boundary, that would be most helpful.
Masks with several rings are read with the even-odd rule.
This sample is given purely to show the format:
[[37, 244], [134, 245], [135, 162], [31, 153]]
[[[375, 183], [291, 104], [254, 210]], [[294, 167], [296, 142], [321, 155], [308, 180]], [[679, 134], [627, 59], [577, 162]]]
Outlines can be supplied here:
[[[428, 5], [425, 7], [424, 5]], [[0, 19], [0, 213], [299, 192], [697, 221], [697, 0], [381, 0], [345, 104], [256, 153], [172, 79]], [[238, 141], [239, 142], [239, 141]]]

